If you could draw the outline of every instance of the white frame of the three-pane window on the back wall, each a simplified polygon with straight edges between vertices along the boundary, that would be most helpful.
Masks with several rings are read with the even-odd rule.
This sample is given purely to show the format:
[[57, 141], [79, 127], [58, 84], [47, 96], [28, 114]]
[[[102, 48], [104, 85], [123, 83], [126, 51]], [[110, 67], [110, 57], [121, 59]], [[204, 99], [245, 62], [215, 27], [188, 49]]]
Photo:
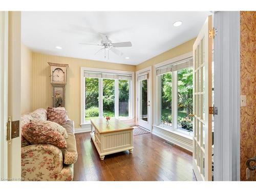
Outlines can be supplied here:
[[[81, 92], [81, 116], [80, 116], [80, 125], [83, 129], [86, 129], [86, 131], [90, 131], [90, 124], [91, 122], [88, 122], [85, 120], [85, 108], [86, 108], [86, 94], [85, 94], [85, 78], [84, 77], [84, 71], [87, 72], [105, 72], [105, 73], [115, 73], [115, 74], [120, 74], [120, 75], [132, 75], [132, 80], [129, 82], [129, 117], [123, 117], [119, 118], [119, 120], [124, 120], [127, 123], [132, 123], [135, 121], [135, 113], [134, 113], [134, 106], [135, 106], [135, 99], [134, 99], [134, 84], [135, 84], [135, 75], [134, 72], [130, 71], [119, 71], [119, 70], [106, 70], [106, 69], [98, 69], [98, 68], [86, 68], [86, 67], [81, 67], [80, 71], [80, 92]], [[103, 99], [102, 99], [102, 79], [99, 78], [99, 117], [103, 117]], [[119, 90], [118, 88], [118, 79], [115, 79], [115, 118], [118, 118], [118, 105], [119, 105]], [[117, 98], [117, 99], [116, 99]]]

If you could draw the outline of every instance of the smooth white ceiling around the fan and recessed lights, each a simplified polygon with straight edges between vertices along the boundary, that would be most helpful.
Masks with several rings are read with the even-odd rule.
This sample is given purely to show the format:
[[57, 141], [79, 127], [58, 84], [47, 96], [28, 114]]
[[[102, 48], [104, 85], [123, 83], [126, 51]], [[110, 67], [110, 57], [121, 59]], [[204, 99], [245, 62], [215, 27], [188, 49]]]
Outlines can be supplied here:
[[[36, 52], [138, 65], [164, 51], [196, 37], [210, 12], [22, 12], [22, 41]], [[181, 20], [179, 27], [173, 23]], [[98, 32], [112, 42], [131, 41], [132, 47], [117, 48], [119, 57], [110, 52], [95, 53]], [[56, 46], [62, 47], [61, 50]], [[130, 59], [125, 59], [130, 57]]]

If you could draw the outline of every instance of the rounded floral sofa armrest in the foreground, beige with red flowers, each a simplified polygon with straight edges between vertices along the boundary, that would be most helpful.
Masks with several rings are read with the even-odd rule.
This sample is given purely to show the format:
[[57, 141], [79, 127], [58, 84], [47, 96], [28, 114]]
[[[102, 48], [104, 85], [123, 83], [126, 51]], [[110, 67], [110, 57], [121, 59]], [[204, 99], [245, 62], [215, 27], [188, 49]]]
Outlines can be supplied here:
[[51, 144], [22, 147], [22, 177], [32, 181], [56, 180], [63, 168], [61, 150]]

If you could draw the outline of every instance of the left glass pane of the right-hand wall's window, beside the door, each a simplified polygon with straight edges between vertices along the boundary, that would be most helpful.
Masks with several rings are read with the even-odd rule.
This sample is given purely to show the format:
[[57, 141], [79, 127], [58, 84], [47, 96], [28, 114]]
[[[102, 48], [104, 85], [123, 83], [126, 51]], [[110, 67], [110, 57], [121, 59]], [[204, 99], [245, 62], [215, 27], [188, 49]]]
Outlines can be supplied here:
[[172, 126], [172, 73], [161, 75], [161, 123]]

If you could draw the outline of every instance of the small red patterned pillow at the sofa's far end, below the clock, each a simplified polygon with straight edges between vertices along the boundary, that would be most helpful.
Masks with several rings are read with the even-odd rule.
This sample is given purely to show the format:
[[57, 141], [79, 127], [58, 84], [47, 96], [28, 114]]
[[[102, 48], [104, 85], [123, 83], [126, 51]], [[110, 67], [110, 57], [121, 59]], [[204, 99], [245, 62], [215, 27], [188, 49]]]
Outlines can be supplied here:
[[67, 112], [66, 110], [58, 108], [47, 109], [47, 120], [56, 122], [60, 125], [67, 123]]

